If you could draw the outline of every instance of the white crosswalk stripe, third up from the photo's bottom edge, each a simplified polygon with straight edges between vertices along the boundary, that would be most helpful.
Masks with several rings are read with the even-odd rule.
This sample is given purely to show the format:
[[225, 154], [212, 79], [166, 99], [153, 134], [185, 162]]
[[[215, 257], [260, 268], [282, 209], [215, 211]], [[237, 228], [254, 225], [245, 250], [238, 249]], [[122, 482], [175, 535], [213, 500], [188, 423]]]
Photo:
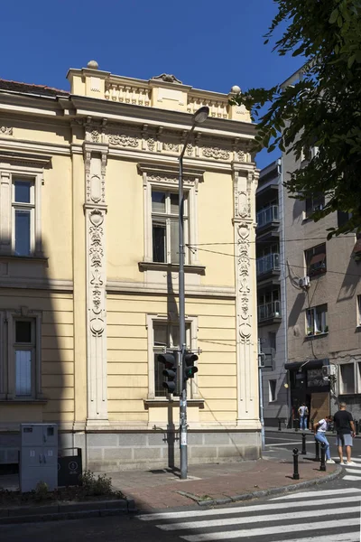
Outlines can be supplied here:
[[[269, 508], [268, 508], [269, 509]], [[245, 509], [244, 512], [249, 510]], [[322, 518], [325, 516], [341, 516], [348, 514], [357, 514], [360, 511], [360, 506], [350, 506], [346, 509], [339, 508], [339, 499], [338, 499], [338, 508], [335, 509], [323, 509]], [[319, 518], [319, 508], [307, 511], [297, 511], [297, 519], [304, 518]], [[157, 525], [157, 528], [162, 530], [194, 530], [197, 528], [215, 528], [215, 527], [228, 527], [230, 525], [246, 525], [249, 523], [260, 523], [262, 522], [271, 522], [271, 521], [287, 521], [288, 519], [294, 519], [294, 512], [286, 512], [281, 514], [272, 514], [266, 516], [242, 516], [241, 518], [223, 518], [223, 519], [207, 519], [205, 521], [186, 521], [184, 523], [165, 523], [162, 525]]]

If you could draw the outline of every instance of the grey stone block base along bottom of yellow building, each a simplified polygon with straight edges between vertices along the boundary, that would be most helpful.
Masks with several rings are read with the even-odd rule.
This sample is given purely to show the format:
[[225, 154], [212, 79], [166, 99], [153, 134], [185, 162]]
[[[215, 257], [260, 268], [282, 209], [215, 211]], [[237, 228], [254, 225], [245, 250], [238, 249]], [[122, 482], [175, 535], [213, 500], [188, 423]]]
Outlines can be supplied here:
[[[96, 472], [179, 467], [179, 435], [173, 432], [60, 433], [59, 448], [81, 448], [83, 468]], [[0, 434], [0, 464], [18, 463], [20, 435]], [[66, 454], [69, 454], [67, 451]], [[261, 457], [258, 431], [190, 431], [188, 462], [227, 463]]]

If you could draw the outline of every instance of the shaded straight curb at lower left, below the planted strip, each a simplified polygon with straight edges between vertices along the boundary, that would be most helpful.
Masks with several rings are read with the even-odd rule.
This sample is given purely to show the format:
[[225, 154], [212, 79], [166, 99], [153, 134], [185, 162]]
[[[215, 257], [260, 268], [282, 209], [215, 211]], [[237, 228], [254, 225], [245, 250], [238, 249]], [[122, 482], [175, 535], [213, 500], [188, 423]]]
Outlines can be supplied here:
[[117, 516], [118, 514], [128, 514], [134, 511], [135, 503], [133, 499], [64, 502], [37, 507], [16, 507], [0, 509], [0, 525]]

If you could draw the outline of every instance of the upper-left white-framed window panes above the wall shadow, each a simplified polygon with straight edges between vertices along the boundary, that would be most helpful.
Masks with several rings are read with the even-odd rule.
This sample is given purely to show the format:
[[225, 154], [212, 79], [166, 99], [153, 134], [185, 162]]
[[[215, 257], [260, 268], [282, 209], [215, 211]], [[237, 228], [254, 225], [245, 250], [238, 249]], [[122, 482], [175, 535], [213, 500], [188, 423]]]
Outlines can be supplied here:
[[13, 176], [13, 251], [16, 256], [31, 256], [34, 251], [34, 180]]

